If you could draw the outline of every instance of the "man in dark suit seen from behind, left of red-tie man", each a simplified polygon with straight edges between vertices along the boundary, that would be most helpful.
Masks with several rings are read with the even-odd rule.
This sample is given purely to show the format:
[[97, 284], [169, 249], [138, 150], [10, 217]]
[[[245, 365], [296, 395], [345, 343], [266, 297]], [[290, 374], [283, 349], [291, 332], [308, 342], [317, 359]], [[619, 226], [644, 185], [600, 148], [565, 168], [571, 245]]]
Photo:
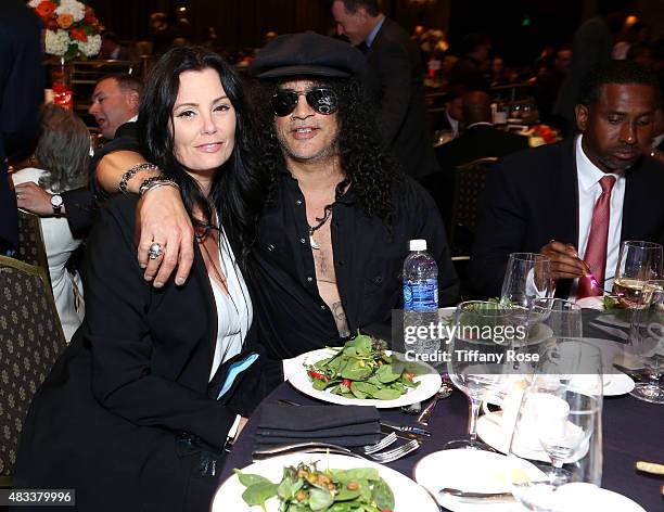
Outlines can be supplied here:
[[487, 156], [505, 156], [528, 148], [528, 139], [499, 130], [491, 125], [491, 102], [486, 92], [470, 91], [463, 95], [461, 136], [436, 149], [440, 170], [420, 180], [432, 194], [446, 227], [451, 222], [456, 167]]

